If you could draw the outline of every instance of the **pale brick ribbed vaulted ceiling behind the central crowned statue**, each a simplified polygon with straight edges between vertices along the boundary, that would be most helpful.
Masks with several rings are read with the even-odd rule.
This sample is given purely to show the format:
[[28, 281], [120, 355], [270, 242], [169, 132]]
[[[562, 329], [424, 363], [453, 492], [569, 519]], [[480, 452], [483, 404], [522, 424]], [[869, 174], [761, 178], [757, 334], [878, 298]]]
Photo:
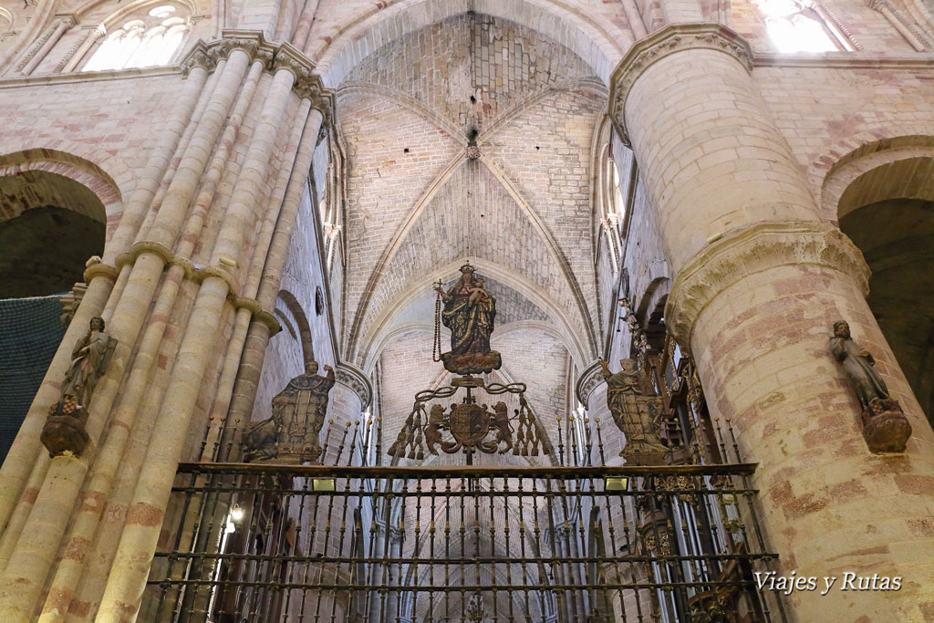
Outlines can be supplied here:
[[[407, 350], [411, 331], [430, 332], [431, 283], [465, 258], [488, 276], [498, 332], [525, 322], [525, 340], [559, 336], [578, 364], [592, 359], [590, 162], [605, 106], [571, 50], [487, 15], [437, 22], [358, 64], [338, 90], [348, 359], [369, 368], [394, 339]], [[468, 160], [474, 136], [481, 157]], [[564, 368], [552, 373], [561, 386]]]

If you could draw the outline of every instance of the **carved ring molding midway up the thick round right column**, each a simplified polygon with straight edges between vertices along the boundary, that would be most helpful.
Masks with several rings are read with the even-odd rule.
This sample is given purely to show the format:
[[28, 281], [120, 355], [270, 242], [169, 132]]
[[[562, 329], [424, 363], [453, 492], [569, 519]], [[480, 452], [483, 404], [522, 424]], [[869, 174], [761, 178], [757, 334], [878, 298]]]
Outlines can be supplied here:
[[763, 221], [721, 238], [687, 262], [665, 305], [669, 332], [689, 350], [694, 323], [721, 292], [744, 276], [789, 264], [838, 270], [869, 293], [869, 266], [839, 229], [816, 220]]

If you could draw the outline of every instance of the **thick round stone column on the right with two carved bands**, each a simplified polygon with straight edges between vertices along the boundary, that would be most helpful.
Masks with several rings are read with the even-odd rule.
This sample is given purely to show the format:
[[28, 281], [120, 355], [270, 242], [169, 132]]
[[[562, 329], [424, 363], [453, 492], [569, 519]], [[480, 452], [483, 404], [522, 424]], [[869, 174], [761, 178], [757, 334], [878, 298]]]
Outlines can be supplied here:
[[[799, 591], [800, 620], [853, 612], [923, 618], [934, 582], [925, 517], [932, 434], [885, 344], [856, 247], [821, 221], [800, 167], [750, 77], [748, 44], [717, 24], [675, 24], [637, 43], [613, 76], [611, 113], [631, 141], [676, 275], [666, 324], [698, 363], [712, 415], [729, 418], [785, 574], [902, 579], [885, 591]], [[664, 102], [658, 106], [658, 102]], [[837, 319], [877, 355], [914, 437], [870, 453], [859, 407], [828, 352]]]

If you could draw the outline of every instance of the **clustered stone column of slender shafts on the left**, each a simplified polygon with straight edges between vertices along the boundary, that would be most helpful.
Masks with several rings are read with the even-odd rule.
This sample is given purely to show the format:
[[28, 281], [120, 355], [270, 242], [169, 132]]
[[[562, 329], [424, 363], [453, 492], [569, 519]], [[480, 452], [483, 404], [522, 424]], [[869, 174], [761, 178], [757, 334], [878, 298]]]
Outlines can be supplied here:
[[[0, 470], [4, 621], [39, 606], [44, 621], [134, 618], [192, 421], [204, 430], [208, 414], [226, 415], [250, 321], [277, 330], [272, 304], [257, 300], [263, 268], [288, 248], [280, 216], [294, 223], [333, 94], [298, 50], [258, 33], [226, 31], [183, 66], [175, 109]], [[91, 443], [50, 458], [39, 431], [94, 316], [117, 347], [83, 405]]]

